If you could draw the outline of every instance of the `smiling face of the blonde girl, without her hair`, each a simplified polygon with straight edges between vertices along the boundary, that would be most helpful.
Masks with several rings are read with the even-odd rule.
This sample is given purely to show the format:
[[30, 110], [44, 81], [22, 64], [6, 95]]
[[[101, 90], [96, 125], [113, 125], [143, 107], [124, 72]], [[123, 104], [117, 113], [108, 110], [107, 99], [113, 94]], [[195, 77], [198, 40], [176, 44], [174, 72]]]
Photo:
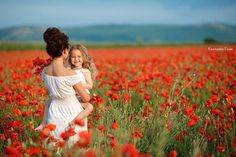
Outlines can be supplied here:
[[84, 60], [82, 53], [79, 50], [75, 49], [71, 51], [70, 60], [72, 65], [74, 65], [77, 68], [82, 68]]

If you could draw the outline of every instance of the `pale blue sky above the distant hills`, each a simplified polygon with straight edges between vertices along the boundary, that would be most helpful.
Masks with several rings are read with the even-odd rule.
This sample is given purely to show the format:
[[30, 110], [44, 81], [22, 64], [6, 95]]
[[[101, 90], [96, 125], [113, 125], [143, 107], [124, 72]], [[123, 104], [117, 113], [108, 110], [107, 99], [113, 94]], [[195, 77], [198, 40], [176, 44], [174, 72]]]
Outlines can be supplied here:
[[0, 28], [95, 24], [236, 25], [235, 0], [1, 0]]

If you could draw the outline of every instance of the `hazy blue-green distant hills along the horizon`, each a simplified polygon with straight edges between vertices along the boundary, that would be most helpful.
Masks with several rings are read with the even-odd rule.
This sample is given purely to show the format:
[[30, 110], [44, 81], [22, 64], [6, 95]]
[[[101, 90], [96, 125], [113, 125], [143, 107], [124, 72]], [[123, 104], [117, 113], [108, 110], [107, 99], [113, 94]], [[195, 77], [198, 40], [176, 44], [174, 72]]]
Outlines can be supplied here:
[[[19, 26], [0, 29], [0, 41], [38, 42], [47, 27]], [[60, 28], [72, 41], [107, 43], [202, 43], [206, 38], [236, 42], [236, 26], [204, 25], [94, 25]]]

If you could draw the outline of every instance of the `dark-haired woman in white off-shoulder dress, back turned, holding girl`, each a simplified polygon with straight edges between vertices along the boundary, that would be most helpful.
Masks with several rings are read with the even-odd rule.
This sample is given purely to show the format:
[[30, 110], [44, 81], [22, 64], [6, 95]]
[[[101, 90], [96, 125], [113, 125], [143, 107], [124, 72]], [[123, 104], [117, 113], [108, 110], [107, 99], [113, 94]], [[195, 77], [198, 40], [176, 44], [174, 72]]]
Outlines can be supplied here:
[[[81, 84], [81, 79], [74, 70], [64, 66], [68, 57], [68, 36], [58, 28], [48, 28], [44, 32], [46, 51], [53, 60], [42, 72], [42, 79], [48, 87], [51, 97], [47, 123], [55, 124], [56, 129], [51, 132], [54, 138], [60, 140], [62, 132], [70, 128], [76, 116], [83, 108], [76, 98], [76, 92], [84, 102], [90, 100], [89, 94]], [[83, 131], [82, 127], [75, 126], [75, 132]], [[78, 140], [78, 135], [69, 139], [73, 143]]]

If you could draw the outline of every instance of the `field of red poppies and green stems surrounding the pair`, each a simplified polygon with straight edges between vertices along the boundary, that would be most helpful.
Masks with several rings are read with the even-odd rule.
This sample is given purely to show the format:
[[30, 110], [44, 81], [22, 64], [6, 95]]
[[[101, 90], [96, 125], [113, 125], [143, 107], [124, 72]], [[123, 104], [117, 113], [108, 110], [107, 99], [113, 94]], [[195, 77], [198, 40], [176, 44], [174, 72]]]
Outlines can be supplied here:
[[[91, 49], [99, 71], [88, 132], [53, 149], [44, 51], [0, 52], [0, 156], [236, 156], [236, 46]], [[78, 125], [83, 125], [78, 123]]]

